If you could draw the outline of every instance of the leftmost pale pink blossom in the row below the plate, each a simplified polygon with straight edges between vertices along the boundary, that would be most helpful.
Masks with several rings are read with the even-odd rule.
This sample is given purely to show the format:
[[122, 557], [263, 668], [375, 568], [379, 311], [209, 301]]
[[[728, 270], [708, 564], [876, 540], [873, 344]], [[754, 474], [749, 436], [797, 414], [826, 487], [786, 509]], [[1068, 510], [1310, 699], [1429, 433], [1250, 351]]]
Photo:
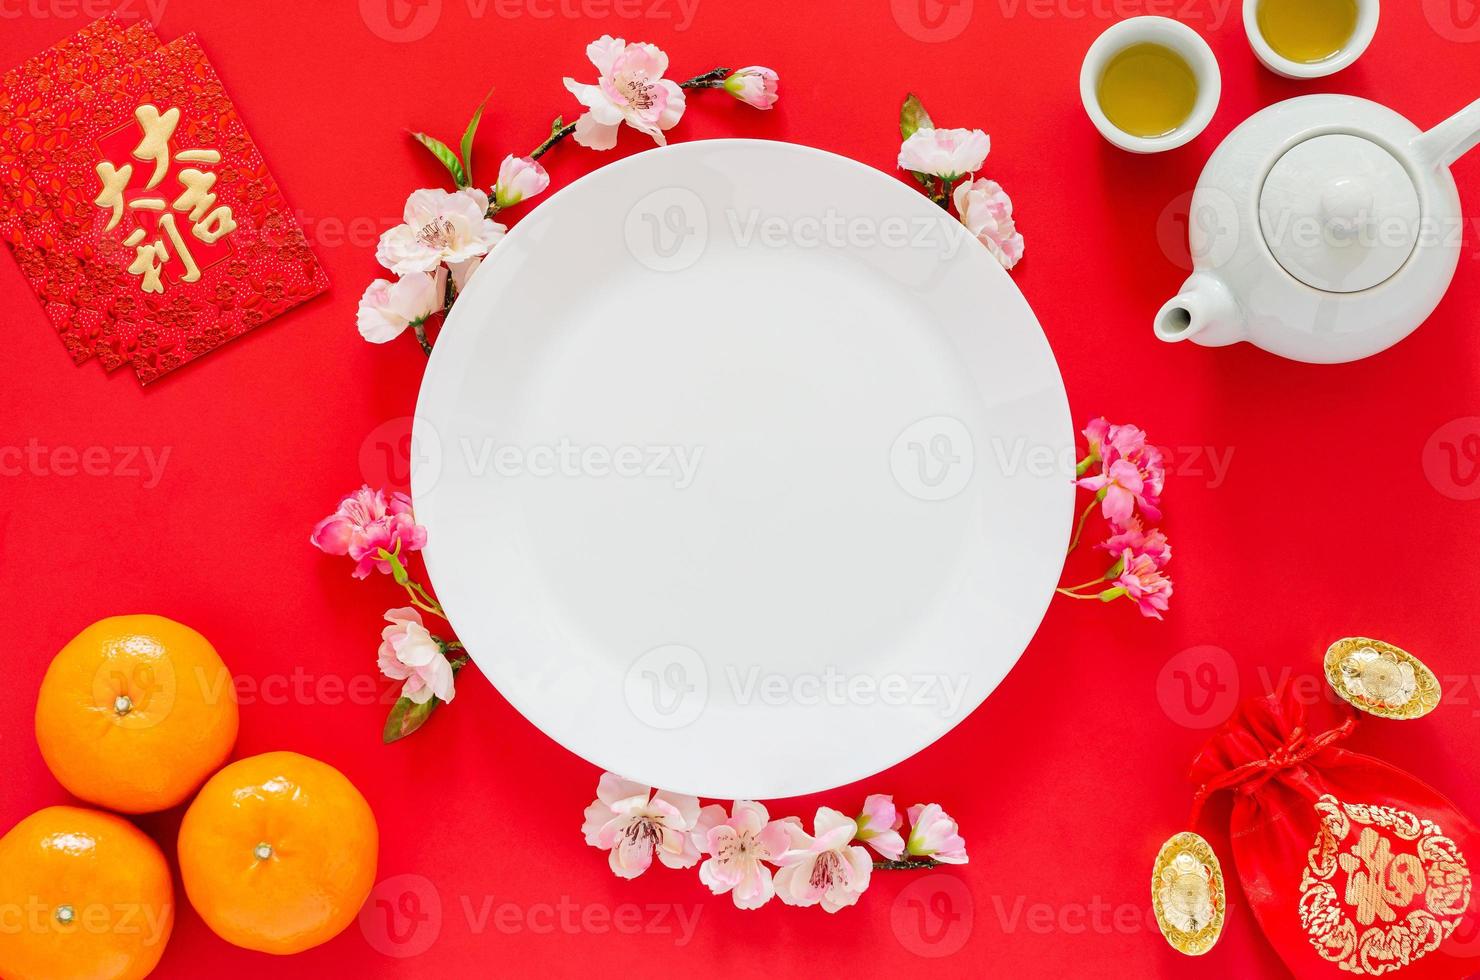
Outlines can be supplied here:
[[629, 779], [602, 773], [596, 799], [586, 807], [582, 833], [586, 844], [611, 851], [611, 873], [636, 878], [653, 865], [653, 856], [667, 867], [693, 867], [699, 863], [694, 825], [699, 799]]

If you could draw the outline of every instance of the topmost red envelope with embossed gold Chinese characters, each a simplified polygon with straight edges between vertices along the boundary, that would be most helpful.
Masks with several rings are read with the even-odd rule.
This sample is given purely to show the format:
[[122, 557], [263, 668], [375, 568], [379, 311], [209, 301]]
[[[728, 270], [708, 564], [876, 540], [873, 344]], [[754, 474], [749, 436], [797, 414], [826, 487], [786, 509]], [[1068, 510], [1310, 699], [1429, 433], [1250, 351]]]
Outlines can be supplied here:
[[[149, 383], [329, 287], [194, 36], [83, 89], [31, 176], [41, 268]], [[40, 272], [40, 280], [33, 275]]]

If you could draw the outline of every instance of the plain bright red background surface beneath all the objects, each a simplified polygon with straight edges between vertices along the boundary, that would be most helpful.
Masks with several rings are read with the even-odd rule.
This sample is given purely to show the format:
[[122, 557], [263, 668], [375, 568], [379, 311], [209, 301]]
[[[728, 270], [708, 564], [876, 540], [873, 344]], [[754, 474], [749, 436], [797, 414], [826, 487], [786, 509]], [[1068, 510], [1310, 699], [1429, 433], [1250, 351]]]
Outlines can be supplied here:
[[[1150, 862], [1187, 817], [1183, 774], [1199, 727], [1227, 714], [1234, 690], [1289, 678], [1328, 711], [1319, 656], [1350, 634], [1418, 653], [1447, 696], [1425, 721], [1366, 725], [1356, 748], [1480, 814], [1480, 503], [1464, 499], [1480, 486], [1464, 483], [1468, 471], [1450, 478], [1440, 446], [1480, 432], [1480, 419], [1464, 420], [1480, 416], [1480, 224], [1467, 228], [1440, 311], [1359, 364], [1174, 348], [1150, 330], [1184, 275], [1175, 206], [1222, 135], [1259, 107], [1322, 90], [1440, 121], [1480, 96], [1480, 25], [1464, 19], [1477, 13], [1471, 0], [1390, 1], [1369, 53], [1314, 83], [1258, 68], [1225, 0], [975, 0], [969, 12], [958, 4], [959, 19], [937, 37], [913, 1], [699, 0], [685, 24], [675, 0], [567, 0], [564, 10], [432, 0], [420, 15], [432, 18], [429, 33], [414, 41], [389, 37], [377, 0], [361, 6], [166, 0], [158, 16], [166, 38], [200, 33], [300, 210], [330, 296], [141, 391], [130, 372], [73, 367], [15, 264], [0, 261], [0, 446], [36, 446], [41, 460], [0, 457], [0, 594], [10, 610], [0, 826], [68, 799], [31, 734], [53, 651], [98, 617], [154, 611], [201, 629], [240, 675], [237, 754], [295, 749], [342, 768], [379, 816], [380, 876], [417, 876], [386, 885], [376, 899], [389, 905], [366, 928], [284, 961], [228, 946], [182, 903], [157, 976], [1280, 977], [1237, 896], [1217, 950], [1202, 962], [1174, 955], [1146, 913]], [[1085, 118], [1079, 61], [1116, 16], [1171, 6], [1209, 36], [1222, 107], [1187, 148], [1131, 157]], [[81, 28], [89, 12], [0, 0], [0, 16], [9, 65]], [[596, 770], [475, 672], [453, 708], [392, 748], [379, 743], [386, 706], [345, 694], [373, 682], [379, 614], [398, 595], [383, 579], [352, 582], [346, 561], [306, 537], [340, 493], [386, 477], [373, 460], [397, 444], [425, 364], [408, 338], [374, 348], [354, 326], [355, 301], [377, 274], [374, 237], [398, 221], [408, 191], [443, 179], [403, 130], [451, 141], [496, 86], [478, 142], [487, 182], [487, 164], [527, 152], [556, 113], [573, 117], [561, 75], [593, 75], [583, 47], [604, 31], [659, 43], [675, 77], [753, 62], [781, 73], [777, 111], [702, 95], [676, 139], [789, 139], [891, 170], [909, 89], [940, 124], [987, 129], [986, 173], [1011, 191], [1027, 235], [1014, 275], [1058, 354], [1076, 417], [1134, 420], [1171, 449], [1177, 597], [1166, 623], [1129, 605], [1061, 600], [1006, 682], [949, 737], [866, 785], [773, 807], [810, 820], [817, 804], [851, 811], [875, 791], [935, 799], [959, 817], [971, 865], [878, 875], [842, 915], [780, 903], [737, 912], [694, 872], [613, 878], [579, 833]], [[562, 185], [647, 145], [625, 132], [613, 154], [565, 145], [546, 161]], [[1455, 173], [1480, 218], [1480, 154]], [[108, 452], [108, 472], [68, 475], [68, 450], [89, 447]], [[161, 477], [115, 447], [169, 453]], [[1221, 480], [1209, 449], [1230, 460]], [[1200, 681], [1184, 688], [1180, 671]], [[1205, 694], [1217, 696], [1211, 708]], [[167, 851], [178, 823], [178, 813], [142, 820]], [[697, 913], [687, 942], [673, 912], [659, 921], [654, 905]], [[386, 907], [403, 913], [388, 919]], [[611, 916], [635, 916], [641, 931], [617, 933]], [[1480, 940], [1471, 946], [1480, 970]]]

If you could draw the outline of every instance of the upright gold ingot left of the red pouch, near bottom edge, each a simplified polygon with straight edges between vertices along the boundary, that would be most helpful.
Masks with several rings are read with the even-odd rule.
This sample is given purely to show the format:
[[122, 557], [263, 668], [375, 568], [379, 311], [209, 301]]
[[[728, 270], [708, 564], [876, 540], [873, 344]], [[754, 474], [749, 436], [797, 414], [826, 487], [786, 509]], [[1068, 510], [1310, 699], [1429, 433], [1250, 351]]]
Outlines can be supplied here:
[[1227, 899], [1208, 841], [1188, 830], [1162, 845], [1151, 870], [1151, 909], [1177, 952], [1202, 956], [1218, 943]]

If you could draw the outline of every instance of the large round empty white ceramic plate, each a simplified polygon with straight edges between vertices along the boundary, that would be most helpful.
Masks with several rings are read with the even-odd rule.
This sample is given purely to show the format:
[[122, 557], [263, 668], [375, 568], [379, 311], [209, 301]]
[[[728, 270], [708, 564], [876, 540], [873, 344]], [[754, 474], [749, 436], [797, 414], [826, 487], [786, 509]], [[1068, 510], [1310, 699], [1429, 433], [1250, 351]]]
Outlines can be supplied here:
[[777, 142], [644, 152], [525, 216], [413, 449], [482, 674], [595, 765], [715, 798], [863, 779], [971, 714], [1073, 509], [1006, 272], [894, 176]]

